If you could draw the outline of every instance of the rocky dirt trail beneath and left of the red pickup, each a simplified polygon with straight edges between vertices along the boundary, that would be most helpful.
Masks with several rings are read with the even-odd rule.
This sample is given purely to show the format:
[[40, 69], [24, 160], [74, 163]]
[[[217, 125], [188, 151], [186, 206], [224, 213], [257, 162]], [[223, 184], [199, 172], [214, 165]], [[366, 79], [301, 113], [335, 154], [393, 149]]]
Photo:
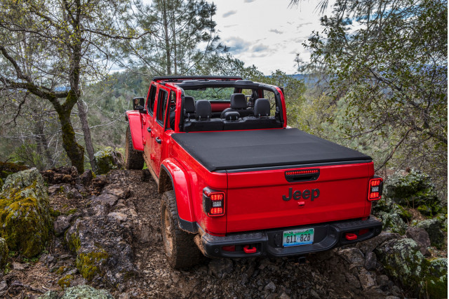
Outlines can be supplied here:
[[[173, 270], [163, 251], [161, 196], [148, 171], [110, 171], [97, 178], [65, 172], [43, 173], [51, 207], [61, 213], [55, 237], [38, 258], [10, 257], [0, 278], [1, 297], [39, 298], [47, 292], [41, 298], [60, 298], [63, 289], [85, 284], [122, 299], [406, 298], [420, 292], [387, 275], [386, 261], [396, 267], [400, 260], [389, 262], [384, 253], [402, 256], [400, 243], [413, 248], [412, 255], [420, 251], [392, 232], [309, 254], [306, 263], [203, 258], [195, 267]], [[447, 273], [447, 261], [445, 267]]]

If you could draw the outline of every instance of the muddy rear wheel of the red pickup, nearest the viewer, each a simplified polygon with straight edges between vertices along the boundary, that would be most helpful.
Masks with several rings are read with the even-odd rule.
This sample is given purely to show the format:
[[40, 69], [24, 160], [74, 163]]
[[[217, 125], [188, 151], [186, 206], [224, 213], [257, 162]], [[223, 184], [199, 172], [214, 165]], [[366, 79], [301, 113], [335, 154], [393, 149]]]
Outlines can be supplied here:
[[173, 190], [162, 195], [161, 230], [163, 248], [171, 267], [181, 269], [191, 267], [199, 262], [202, 254], [194, 242], [195, 235], [181, 230], [178, 226]]

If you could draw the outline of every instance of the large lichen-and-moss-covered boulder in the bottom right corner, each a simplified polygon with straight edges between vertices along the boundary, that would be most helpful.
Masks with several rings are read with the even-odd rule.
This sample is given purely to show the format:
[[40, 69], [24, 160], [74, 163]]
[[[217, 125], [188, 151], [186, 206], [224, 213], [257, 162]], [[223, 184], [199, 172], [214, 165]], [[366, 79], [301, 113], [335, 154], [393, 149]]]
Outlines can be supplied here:
[[375, 249], [390, 277], [414, 291], [417, 297], [447, 298], [446, 259], [427, 260], [412, 239], [392, 239]]

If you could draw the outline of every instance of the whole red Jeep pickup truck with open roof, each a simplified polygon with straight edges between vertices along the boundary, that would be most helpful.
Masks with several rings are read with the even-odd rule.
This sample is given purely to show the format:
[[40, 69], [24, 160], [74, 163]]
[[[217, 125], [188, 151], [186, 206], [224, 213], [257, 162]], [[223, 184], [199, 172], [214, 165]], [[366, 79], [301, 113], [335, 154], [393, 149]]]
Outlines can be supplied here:
[[155, 77], [126, 112], [126, 168], [152, 173], [172, 267], [289, 256], [375, 237], [370, 157], [287, 126], [283, 88], [240, 77]]

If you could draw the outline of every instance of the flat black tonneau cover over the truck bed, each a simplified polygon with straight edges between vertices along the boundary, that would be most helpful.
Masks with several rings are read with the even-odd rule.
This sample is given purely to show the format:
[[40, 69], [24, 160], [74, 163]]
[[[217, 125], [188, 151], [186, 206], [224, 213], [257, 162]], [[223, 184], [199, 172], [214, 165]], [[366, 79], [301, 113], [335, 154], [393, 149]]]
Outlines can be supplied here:
[[172, 137], [208, 171], [371, 160], [297, 128], [174, 133]]

